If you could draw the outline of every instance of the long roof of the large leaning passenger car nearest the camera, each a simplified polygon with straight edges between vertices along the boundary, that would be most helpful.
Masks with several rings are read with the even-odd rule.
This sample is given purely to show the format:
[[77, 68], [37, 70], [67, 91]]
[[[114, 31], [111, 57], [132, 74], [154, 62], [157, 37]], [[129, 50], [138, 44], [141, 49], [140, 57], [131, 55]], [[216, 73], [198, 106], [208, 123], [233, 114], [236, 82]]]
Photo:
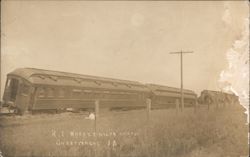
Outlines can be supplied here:
[[21, 77], [32, 84], [82, 86], [92, 88], [113, 88], [122, 90], [148, 91], [140, 82], [120, 80], [99, 76], [82, 75], [61, 71], [43, 70], [35, 68], [19, 68], [8, 75]]

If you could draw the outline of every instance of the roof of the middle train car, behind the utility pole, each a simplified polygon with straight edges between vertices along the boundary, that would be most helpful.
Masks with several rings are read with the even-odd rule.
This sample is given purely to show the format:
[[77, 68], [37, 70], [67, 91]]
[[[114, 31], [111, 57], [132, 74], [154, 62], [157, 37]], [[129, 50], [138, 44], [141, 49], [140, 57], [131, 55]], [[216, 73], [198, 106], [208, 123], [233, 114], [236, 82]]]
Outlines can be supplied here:
[[[180, 88], [176, 87], [169, 87], [169, 86], [163, 86], [163, 85], [158, 85], [158, 84], [146, 84], [148, 88], [152, 89], [155, 92], [180, 92]], [[194, 91], [189, 90], [189, 89], [183, 89], [184, 94], [191, 94], [191, 95], [196, 95]]]

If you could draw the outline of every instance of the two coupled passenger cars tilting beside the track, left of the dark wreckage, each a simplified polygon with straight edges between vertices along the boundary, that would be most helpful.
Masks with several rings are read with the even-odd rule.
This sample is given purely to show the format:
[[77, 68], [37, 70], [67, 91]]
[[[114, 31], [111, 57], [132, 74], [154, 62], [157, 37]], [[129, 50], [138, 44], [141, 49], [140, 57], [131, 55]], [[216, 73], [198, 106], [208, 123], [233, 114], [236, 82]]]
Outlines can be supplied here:
[[[169, 108], [180, 99], [180, 89], [135, 81], [80, 75], [35, 68], [20, 68], [7, 75], [2, 107], [16, 113], [101, 108]], [[197, 95], [184, 90], [185, 106], [194, 106]], [[180, 102], [180, 101], [179, 101]]]

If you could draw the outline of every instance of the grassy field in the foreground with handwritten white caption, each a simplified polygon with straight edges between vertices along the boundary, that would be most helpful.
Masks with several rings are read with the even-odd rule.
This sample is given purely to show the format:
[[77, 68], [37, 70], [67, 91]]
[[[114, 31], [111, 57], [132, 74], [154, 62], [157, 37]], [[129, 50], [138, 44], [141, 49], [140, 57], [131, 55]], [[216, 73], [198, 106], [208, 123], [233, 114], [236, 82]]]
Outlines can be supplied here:
[[[243, 109], [200, 107], [102, 111], [0, 118], [0, 151], [8, 156], [243, 157], [248, 126]], [[96, 126], [96, 127], [95, 127]]]

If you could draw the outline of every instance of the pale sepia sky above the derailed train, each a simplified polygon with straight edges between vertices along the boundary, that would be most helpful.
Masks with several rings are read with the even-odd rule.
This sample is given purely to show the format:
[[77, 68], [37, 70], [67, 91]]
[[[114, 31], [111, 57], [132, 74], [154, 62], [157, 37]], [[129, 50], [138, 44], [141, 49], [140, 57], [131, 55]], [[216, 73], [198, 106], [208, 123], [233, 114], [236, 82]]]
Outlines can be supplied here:
[[20, 67], [180, 87], [181, 50], [184, 88], [220, 90], [249, 17], [244, 1], [1, 3], [2, 92]]

